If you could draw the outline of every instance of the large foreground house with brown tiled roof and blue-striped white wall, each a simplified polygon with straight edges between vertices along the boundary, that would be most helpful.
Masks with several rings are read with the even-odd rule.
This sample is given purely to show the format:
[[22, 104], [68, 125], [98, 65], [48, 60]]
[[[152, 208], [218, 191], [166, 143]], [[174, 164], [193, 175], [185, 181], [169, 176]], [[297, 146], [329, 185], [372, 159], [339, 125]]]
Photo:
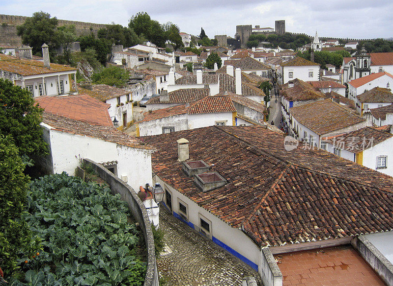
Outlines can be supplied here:
[[281, 132], [210, 126], [143, 140], [157, 149], [162, 205], [257, 270], [265, 286], [284, 285], [273, 254], [320, 251], [393, 228], [392, 177], [303, 143], [287, 151]]

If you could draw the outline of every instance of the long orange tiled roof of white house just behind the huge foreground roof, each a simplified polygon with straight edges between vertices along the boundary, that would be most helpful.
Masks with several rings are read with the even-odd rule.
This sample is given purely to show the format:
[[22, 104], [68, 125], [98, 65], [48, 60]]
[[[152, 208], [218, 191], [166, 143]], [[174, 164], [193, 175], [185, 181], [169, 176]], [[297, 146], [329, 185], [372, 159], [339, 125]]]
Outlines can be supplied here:
[[186, 106], [186, 104], [174, 107], [168, 107], [159, 110], [148, 111], [144, 113], [142, 121], [151, 121], [165, 117], [180, 114], [206, 114], [206, 113], [222, 113], [236, 112], [235, 107], [228, 95], [206, 96], [198, 101], [194, 101]]

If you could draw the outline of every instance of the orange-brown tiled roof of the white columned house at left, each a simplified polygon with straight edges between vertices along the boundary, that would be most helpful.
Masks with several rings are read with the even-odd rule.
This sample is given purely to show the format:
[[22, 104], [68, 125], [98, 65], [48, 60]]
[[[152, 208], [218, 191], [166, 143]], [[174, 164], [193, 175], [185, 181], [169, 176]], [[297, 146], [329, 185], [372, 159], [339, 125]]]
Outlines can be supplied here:
[[48, 69], [42, 61], [20, 59], [18, 57], [0, 54], [0, 70], [27, 76], [61, 71], [76, 71], [77, 69], [53, 63], [51, 63], [51, 68]]

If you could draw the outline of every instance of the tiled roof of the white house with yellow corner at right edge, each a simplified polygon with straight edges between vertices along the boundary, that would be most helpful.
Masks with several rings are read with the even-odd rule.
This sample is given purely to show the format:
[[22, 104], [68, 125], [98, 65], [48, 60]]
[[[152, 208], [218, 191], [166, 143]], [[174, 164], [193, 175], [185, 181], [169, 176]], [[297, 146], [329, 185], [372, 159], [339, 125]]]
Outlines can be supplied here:
[[[352, 132], [322, 138], [322, 140], [337, 146], [337, 148], [345, 149], [352, 153], [359, 153], [384, 142], [392, 136], [391, 133], [364, 127]], [[372, 140], [372, 143], [369, 142], [370, 140]]]

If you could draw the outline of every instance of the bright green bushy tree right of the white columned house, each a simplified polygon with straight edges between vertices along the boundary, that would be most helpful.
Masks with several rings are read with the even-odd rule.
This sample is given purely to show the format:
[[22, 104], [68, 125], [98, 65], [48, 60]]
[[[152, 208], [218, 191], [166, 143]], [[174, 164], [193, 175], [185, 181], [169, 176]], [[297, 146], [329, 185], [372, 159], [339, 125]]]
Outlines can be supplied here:
[[120, 67], [109, 67], [103, 71], [93, 73], [91, 79], [94, 84], [106, 84], [116, 87], [124, 87], [130, 78], [127, 70]]

